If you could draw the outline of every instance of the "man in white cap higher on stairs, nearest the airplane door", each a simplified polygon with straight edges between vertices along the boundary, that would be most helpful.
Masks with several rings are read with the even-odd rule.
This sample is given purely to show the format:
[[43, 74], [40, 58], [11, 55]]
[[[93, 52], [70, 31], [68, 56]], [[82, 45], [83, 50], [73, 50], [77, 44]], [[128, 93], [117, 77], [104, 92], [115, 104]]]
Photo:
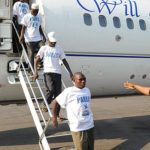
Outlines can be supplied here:
[[[38, 14], [38, 11], [39, 5], [33, 3], [31, 6], [31, 13], [28, 13], [23, 17], [22, 31], [19, 38], [20, 43], [23, 41], [23, 36], [25, 38], [29, 59], [33, 67], [34, 54], [38, 52], [39, 48], [43, 45], [43, 42], [46, 41], [41, 28], [42, 19], [40, 14]], [[41, 35], [43, 36], [43, 42]]]

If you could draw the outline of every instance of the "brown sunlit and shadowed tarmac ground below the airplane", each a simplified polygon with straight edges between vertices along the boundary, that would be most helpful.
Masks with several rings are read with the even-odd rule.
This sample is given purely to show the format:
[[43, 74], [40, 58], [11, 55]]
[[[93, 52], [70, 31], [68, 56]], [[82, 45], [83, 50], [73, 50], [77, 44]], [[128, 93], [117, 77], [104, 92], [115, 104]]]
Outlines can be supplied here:
[[[150, 150], [150, 97], [93, 98], [95, 150]], [[67, 123], [47, 134], [69, 133]], [[74, 149], [70, 135], [50, 138], [51, 150]], [[38, 134], [27, 104], [0, 105], [0, 150], [39, 150]]]

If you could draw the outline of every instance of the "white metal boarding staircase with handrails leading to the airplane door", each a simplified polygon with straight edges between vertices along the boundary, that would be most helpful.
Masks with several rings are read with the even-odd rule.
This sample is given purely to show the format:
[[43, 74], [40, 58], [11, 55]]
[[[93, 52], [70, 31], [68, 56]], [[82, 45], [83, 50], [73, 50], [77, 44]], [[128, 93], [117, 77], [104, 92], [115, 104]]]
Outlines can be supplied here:
[[[12, 22], [13, 27], [18, 35], [17, 29], [15, 27], [15, 24]], [[19, 37], [19, 35], [18, 35]], [[22, 44], [22, 54], [20, 57], [19, 64], [15, 64], [15, 68], [17, 69], [18, 77], [20, 80], [20, 84], [22, 86], [25, 98], [27, 100], [29, 109], [31, 111], [35, 126], [38, 131], [39, 135], [39, 146], [41, 150], [50, 150], [50, 146], [48, 144], [48, 138], [50, 137], [59, 137], [62, 135], [56, 135], [56, 136], [46, 136], [46, 130], [48, 126], [51, 123], [52, 119], [52, 112], [51, 109], [47, 103], [47, 100], [45, 98], [45, 95], [43, 93], [43, 90], [41, 88], [40, 82], [38, 79], [36, 79], [35, 82], [33, 82], [33, 79], [29, 77], [29, 73], [27, 71], [27, 68], [25, 67], [25, 63], [29, 64], [29, 67], [31, 68], [32, 73], [34, 74], [33, 67], [30, 63], [30, 60], [28, 58], [28, 55], [26, 53], [26, 50], [24, 48], [24, 45]], [[64, 88], [66, 88], [65, 83], [62, 81], [62, 84]], [[37, 90], [38, 90], [38, 95], [40, 93], [40, 96], [37, 97]], [[48, 115], [44, 115], [44, 112], [42, 111], [39, 103], [39, 99], [42, 99], [43, 102], [45, 103], [47, 109], [48, 109]], [[63, 136], [70, 135], [70, 134], [64, 134]]]

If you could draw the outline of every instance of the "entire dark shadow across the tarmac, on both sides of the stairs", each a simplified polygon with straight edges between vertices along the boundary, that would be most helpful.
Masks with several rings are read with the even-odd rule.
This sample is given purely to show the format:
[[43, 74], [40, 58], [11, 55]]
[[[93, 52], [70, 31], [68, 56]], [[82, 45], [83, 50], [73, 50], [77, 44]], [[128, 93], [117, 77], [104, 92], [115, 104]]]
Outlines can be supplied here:
[[[69, 131], [68, 125], [49, 127], [47, 134]], [[95, 140], [126, 139], [111, 150], [140, 150], [150, 142], [150, 116], [125, 117], [119, 119], [95, 120]], [[72, 142], [71, 136], [55, 137], [49, 143]], [[0, 146], [29, 145], [38, 143], [35, 127], [0, 131]]]

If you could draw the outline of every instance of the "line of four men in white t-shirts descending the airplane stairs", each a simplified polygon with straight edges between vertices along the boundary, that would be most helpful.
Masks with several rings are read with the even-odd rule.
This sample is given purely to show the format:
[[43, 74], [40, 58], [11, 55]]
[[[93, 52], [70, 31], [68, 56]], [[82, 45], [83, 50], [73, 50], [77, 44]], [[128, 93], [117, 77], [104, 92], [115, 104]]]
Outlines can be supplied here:
[[[20, 35], [19, 43], [22, 44], [25, 40], [24, 45], [34, 68], [34, 74], [32, 74], [30, 67], [28, 72], [34, 80], [38, 78], [37, 64], [43, 61], [46, 98], [48, 104], [53, 101], [54, 127], [58, 127], [58, 121], [62, 121], [59, 114], [60, 106], [65, 107], [76, 150], [94, 150], [94, 121], [90, 108], [91, 93], [85, 87], [85, 75], [81, 72], [76, 72], [73, 75], [63, 49], [57, 44], [55, 32], [48, 33], [48, 44], [45, 45], [46, 38], [41, 27], [42, 18], [38, 13], [39, 5], [33, 3], [30, 10], [28, 1], [14, 2], [13, 21]], [[14, 39], [14, 42], [17, 43], [17, 39]], [[19, 50], [20, 47], [19, 45]], [[74, 86], [66, 88], [62, 93], [59, 60], [63, 62], [71, 80], [75, 83]], [[44, 103], [43, 111], [47, 111]]]

